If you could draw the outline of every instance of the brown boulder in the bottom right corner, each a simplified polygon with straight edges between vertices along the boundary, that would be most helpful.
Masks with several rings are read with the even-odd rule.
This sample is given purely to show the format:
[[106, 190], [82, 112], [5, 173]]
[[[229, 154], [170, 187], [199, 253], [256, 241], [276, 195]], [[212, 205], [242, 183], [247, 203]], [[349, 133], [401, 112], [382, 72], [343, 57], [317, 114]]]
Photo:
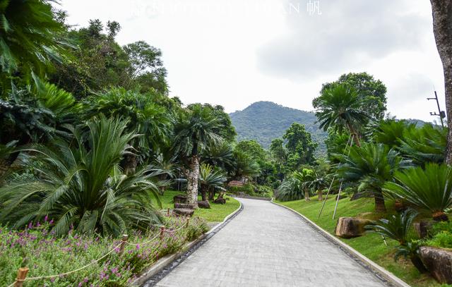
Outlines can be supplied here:
[[440, 283], [452, 283], [452, 251], [422, 246], [420, 257], [425, 267]]

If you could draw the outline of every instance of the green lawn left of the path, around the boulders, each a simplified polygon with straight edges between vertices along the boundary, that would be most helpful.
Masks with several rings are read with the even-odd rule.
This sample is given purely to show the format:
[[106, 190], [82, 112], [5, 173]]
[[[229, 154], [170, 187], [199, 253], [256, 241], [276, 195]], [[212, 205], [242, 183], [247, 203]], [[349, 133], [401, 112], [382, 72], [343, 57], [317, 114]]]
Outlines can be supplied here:
[[[172, 202], [172, 197], [174, 195], [179, 195], [184, 193], [179, 193], [178, 191], [174, 190], [167, 190], [165, 193], [160, 196], [160, 200], [162, 201], [162, 208], [163, 209], [172, 209], [174, 208], [174, 204]], [[195, 211], [194, 216], [199, 216], [203, 219], [206, 219], [209, 222], [220, 222], [225, 219], [226, 216], [234, 212], [237, 208], [239, 208], [240, 203], [237, 200], [234, 200], [234, 198], [225, 196], [226, 204], [215, 204], [213, 202], [210, 202], [210, 209], [201, 209], [198, 208]], [[200, 198], [201, 200], [201, 198]]]

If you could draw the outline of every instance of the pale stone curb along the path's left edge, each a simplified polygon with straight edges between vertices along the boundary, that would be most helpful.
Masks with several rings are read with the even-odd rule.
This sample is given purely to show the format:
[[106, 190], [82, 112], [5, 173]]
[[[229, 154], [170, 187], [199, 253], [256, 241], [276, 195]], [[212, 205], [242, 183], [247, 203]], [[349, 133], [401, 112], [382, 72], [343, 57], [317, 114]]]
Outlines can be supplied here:
[[[137, 279], [135, 279], [131, 283], [131, 286], [143, 286], [143, 284], [146, 283], [146, 281], [151, 279], [153, 276], [156, 276], [160, 272], [164, 271], [164, 269], [166, 267], [169, 267], [169, 265], [171, 265], [174, 261], [176, 261], [177, 259], [180, 259], [184, 255], [191, 255], [192, 252], [194, 252], [199, 247], [201, 247], [201, 245], [206, 243], [206, 241], [209, 240], [210, 237], [214, 236], [215, 233], [220, 231], [220, 229], [223, 228], [226, 224], [228, 224], [235, 216], [237, 216], [237, 214], [242, 212], [243, 204], [239, 200], [237, 200], [237, 201], [240, 203], [240, 206], [237, 209], [235, 209], [234, 212], [232, 212], [231, 214], [226, 216], [225, 219], [223, 219], [223, 221], [220, 222], [220, 224], [213, 226], [213, 228], [210, 228], [209, 231], [202, 234], [195, 240], [193, 240], [189, 243], [186, 243], [181, 248], [181, 250], [179, 250], [178, 252], [170, 254], [170, 255], [165, 255], [164, 257], [158, 259], [157, 262], [155, 262], [152, 266], [150, 266], [143, 274], [141, 274], [141, 276], [139, 276]], [[177, 265], [179, 265], [183, 261], [184, 260], [182, 260], [181, 262], [178, 262], [177, 264], [174, 264], [174, 266], [172, 266], [171, 269], [177, 267]]]

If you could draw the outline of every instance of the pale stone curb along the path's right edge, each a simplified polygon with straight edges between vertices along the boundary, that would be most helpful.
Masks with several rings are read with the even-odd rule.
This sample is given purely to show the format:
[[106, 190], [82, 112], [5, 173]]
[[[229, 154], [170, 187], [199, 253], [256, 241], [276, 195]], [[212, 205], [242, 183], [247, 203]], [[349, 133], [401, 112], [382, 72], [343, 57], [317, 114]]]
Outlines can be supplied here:
[[332, 236], [330, 233], [325, 231], [323, 228], [321, 228], [320, 226], [315, 224], [314, 221], [311, 221], [311, 219], [309, 219], [306, 216], [304, 216], [303, 214], [297, 212], [295, 209], [292, 209], [290, 207], [286, 207], [283, 204], [276, 203], [273, 200], [271, 200], [271, 203], [273, 203], [275, 205], [278, 205], [280, 207], [283, 207], [283, 208], [285, 208], [287, 210], [290, 210], [291, 212], [294, 212], [295, 214], [297, 214], [304, 221], [306, 221], [307, 224], [309, 224], [313, 228], [315, 228], [316, 231], [319, 231], [319, 233], [321, 233], [321, 235], [323, 235], [325, 238], [330, 240], [333, 244], [340, 245], [340, 247], [343, 248], [343, 250], [346, 251], [346, 253], [348, 252], [347, 255], [349, 255], [349, 256], [352, 255], [354, 257], [354, 259], [358, 259], [362, 264], [364, 264], [371, 271], [373, 271], [374, 274], [378, 274], [383, 279], [388, 281], [388, 283], [391, 283], [393, 286], [396, 286], [396, 287], [411, 287], [410, 285], [408, 285], [408, 283], [405, 283], [405, 281], [403, 281], [402, 279], [398, 278], [396, 275], [392, 274], [391, 272], [387, 271], [386, 269], [381, 267], [379, 264], [376, 264], [375, 262], [371, 261], [371, 259], [365, 257], [364, 255], [359, 253], [357, 250], [351, 248], [346, 243], [343, 243], [338, 238], [335, 238], [335, 236]]

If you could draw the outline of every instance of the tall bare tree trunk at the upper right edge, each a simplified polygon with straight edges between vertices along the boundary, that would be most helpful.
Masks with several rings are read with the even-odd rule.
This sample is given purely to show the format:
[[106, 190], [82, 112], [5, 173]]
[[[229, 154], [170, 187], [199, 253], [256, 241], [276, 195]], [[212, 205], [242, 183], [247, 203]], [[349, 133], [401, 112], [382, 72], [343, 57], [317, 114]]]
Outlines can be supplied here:
[[452, 164], [452, 1], [430, 0], [430, 2], [436, 47], [444, 70], [444, 96], [448, 125], [446, 163]]

